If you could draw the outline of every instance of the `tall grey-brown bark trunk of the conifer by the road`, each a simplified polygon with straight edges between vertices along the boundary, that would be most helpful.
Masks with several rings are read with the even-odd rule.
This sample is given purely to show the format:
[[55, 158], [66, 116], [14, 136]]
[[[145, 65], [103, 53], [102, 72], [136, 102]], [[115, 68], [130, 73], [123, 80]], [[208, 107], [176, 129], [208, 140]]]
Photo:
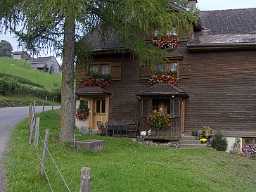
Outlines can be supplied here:
[[60, 142], [72, 142], [75, 129], [74, 102], [75, 19], [65, 18], [61, 85]]

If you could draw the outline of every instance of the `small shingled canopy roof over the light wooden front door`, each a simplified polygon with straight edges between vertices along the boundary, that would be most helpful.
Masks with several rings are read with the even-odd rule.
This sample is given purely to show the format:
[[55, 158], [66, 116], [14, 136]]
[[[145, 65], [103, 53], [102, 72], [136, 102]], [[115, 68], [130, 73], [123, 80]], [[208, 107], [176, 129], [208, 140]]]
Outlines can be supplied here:
[[91, 95], [112, 95], [110, 93], [110, 91], [108, 91], [107, 89], [104, 89], [102, 87], [96, 86], [96, 87], [81, 87], [79, 88], [76, 92], [76, 95], [87, 95], [87, 96], [91, 96]]

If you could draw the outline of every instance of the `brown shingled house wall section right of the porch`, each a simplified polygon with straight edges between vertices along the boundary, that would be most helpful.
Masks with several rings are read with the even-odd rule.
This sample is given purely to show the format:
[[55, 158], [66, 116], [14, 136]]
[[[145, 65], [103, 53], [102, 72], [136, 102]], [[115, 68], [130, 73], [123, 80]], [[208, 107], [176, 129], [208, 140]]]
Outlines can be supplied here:
[[256, 135], [254, 50], [188, 52], [181, 46], [191, 78], [181, 79], [186, 98], [185, 129], [208, 125], [226, 136]]

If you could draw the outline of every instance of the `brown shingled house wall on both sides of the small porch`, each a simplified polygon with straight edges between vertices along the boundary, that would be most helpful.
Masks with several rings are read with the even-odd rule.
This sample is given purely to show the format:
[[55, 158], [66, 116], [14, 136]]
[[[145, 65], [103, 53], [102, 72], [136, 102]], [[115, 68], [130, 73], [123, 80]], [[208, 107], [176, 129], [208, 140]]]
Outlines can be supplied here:
[[[189, 95], [185, 134], [191, 134], [194, 127], [210, 126], [225, 136], [256, 136], [255, 50], [190, 52], [184, 41], [178, 51], [183, 56], [179, 88]], [[94, 61], [122, 66], [121, 79], [110, 83], [109, 120], [139, 121], [135, 95], [149, 87], [148, 79], [141, 79], [139, 61], [124, 55], [101, 55]], [[85, 68], [77, 72], [86, 74]]]

